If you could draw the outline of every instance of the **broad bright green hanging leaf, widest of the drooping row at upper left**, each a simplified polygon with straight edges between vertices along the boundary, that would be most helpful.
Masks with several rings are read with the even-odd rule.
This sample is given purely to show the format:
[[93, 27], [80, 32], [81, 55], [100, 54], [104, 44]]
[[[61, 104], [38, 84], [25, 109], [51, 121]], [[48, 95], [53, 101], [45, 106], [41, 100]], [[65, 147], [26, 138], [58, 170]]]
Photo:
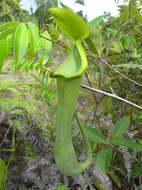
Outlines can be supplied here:
[[14, 36], [14, 59], [16, 63], [20, 63], [25, 56], [28, 47], [28, 30], [25, 24], [21, 23], [17, 27]]

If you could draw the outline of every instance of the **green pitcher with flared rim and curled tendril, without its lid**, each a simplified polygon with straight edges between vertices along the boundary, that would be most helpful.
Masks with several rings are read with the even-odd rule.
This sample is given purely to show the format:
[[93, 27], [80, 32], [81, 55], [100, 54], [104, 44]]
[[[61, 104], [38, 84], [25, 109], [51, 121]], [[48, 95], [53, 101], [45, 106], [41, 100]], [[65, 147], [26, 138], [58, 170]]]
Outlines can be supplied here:
[[[88, 138], [88, 157], [78, 162], [72, 144], [72, 119], [79, 93], [82, 75], [87, 67], [87, 60], [81, 42], [77, 41], [71, 54], [64, 63], [53, 73], [57, 78], [58, 104], [56, 112], [56, 141], [55, 160], [59, 170], [67, 176], [81, 173], [88, 167], [92, 159], [92, 152]], [[82, 128], [83, 130], [83, 128]]]

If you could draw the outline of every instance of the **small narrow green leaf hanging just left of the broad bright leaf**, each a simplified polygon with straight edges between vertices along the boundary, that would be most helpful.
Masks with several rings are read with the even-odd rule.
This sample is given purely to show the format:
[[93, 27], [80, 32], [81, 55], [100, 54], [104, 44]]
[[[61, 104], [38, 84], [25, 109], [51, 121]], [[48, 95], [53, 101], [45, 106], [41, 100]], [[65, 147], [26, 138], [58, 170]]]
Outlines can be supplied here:
[[10, 34], [5, 39], [5, 58], [7, 59], [12, 49], [13, 34]]

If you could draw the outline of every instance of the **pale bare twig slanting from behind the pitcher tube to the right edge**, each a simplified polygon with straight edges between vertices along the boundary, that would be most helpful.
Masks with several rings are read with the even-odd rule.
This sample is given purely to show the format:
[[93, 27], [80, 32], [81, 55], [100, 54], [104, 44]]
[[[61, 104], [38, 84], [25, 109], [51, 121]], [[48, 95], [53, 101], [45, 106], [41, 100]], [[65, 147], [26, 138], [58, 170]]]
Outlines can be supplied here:
[[91, 88], [91, 87], [86, 86], [86, 85], [84, 85], [84, 84], [81, 84], [81, 87], [82, 87], [82, 88], [86, 88], [86, 89], [88, 89], [88, 90], [91, 90], [91, 91], [93, 91], [93, 92], [97, 92], [97, 93], [104, 94], [104, 95], [106, 95], [106, 96], [110, 96], [110, 97], [112, 97], [112, 98], [118, 99], [118, 100], [120, 100], [120, 101], [122, 101], [122, 102], [125, 102], [125, 103], [128, 104], [128, 105], [131, 105], [131, 106], [133, 106], [133, 107], [135, 107], [135, 108], [138, 108], [138, 109], [142, 110], [142, 107], [141, 107], [141, 106], [139, 106], [139, 105], [137, 105], [137, 104], [135, 104], [135, 103], [133, 103], [133, 102], [130, 102], [130, 101], [128, 101], [128, 100], [125, 100], [124, 98], [121, 98], [120, 96], [117, 96], [116, 94], [111, 94], [111, 93], [108, 93], [108, 92], [104, 92], [104, 91], [102, 91], [102, 90], [98, 90], [98, 89], [96, 89], [96, 88]]

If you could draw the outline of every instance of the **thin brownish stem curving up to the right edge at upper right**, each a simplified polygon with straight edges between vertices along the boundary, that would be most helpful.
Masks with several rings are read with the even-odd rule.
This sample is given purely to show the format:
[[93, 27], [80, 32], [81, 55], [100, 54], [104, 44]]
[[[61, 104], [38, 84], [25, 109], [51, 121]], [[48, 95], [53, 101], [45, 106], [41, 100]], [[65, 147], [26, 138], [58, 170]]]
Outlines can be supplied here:
[[131, 17], [129, 20], [127, 20], [127, 22], [125, 22], [124, 24], [122, 24], [122, 26], [120, 27], [120, 29], [114, 34], [114, 36], [112, 37], [112, 40], [110, 42], [110, 45], [108, 46], [107, 50], [106, 50], [106, 55], [105, 58], [108, 56], [109, 50], [112, 46], [113, 41], [115, 40], [116, 36], [119, 34], [119, 32], [127, 25], [129, 24], [129, 22], [131, 22], [136, 16], [138, 16], [139, 14], [141, 14], [142, 12], [136, 14], [135, 16]]

